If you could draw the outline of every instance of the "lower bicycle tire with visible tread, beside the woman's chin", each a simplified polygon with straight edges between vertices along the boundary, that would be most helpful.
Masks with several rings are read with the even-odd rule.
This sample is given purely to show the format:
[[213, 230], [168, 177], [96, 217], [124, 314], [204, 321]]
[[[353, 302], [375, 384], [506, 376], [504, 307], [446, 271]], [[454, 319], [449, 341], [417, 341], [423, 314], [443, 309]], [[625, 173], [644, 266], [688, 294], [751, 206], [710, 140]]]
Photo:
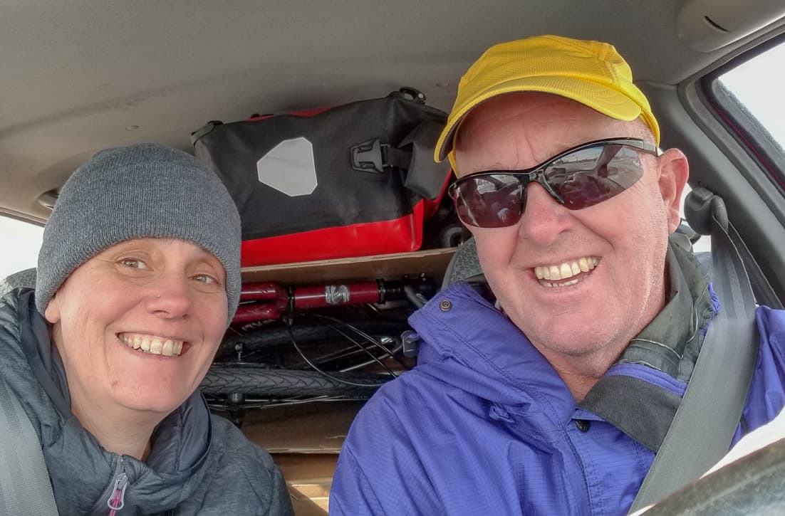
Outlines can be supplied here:
[[270, 398], [315, 396], [370, 397], [381, 383], [392, 377], [359, 372], [330, 372], [341, 383], [318, 371], [269, 369], [256, 364], [213, 364], [200, 387], [204, 394], [246, 394]]

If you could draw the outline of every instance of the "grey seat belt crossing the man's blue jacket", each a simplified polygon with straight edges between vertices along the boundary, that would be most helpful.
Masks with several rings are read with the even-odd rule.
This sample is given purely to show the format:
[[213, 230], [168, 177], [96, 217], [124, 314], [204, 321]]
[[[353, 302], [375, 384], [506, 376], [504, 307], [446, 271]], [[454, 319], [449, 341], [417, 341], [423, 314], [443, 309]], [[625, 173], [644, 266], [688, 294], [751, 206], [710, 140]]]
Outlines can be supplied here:
[[681, 405], [630, 512], [696, 480], [730, 448], [758, 356], [755, 298], [733, 241], [725, 202], [703, 187], [685, 202], [690, 225], [711, 234], [711, 284], [720, 310], [710, 323]]

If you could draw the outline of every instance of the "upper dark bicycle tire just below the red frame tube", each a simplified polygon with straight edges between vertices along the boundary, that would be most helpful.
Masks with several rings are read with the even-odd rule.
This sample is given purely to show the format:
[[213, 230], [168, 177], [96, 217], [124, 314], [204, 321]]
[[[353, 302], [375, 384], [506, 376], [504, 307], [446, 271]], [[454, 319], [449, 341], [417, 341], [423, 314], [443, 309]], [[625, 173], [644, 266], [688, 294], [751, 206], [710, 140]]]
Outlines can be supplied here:
[[[342, 321], [342, 324], [335, 323], [336, 326], [352, 325], [360, 331], [371, 336], [393, 336], [396, 340], [400, 339], [400, 334], [410, 329], [406, 321], [387, 320], [387, 319], [350, 319]], [[330, 341], [340, 339], [341, 336], [330, 326], [323, 322], [295, 322], [291, 326], [294, 338], [298, 343], [313, 343], [321, 340]], [[289, 329], [285, 325], [269, 325], [261, 329], [243, 333], [242, 335], [228, 336], [218, 348], [216, 358], [220, 360], [231, 356], [235, 352], [236, 345], [243, 346], [244, 353], [254, 353], [257, 351], [267, 351], [276, 347], [290, 346], [291, 336]]]

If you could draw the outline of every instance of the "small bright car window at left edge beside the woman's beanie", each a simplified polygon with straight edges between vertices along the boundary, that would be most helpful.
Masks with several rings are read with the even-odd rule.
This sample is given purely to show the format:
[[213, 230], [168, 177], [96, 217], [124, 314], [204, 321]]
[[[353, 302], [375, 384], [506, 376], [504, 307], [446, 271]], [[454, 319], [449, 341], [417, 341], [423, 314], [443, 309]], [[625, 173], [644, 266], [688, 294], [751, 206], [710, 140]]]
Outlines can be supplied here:
[[44, 228], [0, 216], [0, 278], [35, 267]]

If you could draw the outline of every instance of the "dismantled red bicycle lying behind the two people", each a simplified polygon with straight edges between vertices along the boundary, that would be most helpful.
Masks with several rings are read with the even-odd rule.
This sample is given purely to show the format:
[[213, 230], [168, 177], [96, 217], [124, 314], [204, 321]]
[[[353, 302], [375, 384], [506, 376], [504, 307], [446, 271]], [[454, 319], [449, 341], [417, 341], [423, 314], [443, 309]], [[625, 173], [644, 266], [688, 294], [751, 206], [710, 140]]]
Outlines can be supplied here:
[[246, 409], [363, 400], [400, 372], [406, 318], [435, 293], [433, 278], [289, 286], [246, 283], [202, 391], [241, 424]]

